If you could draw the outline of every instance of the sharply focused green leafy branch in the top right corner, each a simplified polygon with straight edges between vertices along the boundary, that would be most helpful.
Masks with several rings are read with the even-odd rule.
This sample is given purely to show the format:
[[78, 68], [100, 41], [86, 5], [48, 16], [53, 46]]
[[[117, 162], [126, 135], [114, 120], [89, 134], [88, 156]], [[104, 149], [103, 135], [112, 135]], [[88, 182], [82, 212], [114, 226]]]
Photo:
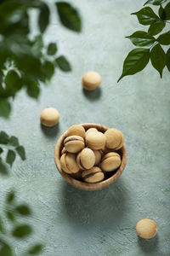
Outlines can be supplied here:
[[[164, 8], [162, 7], [162, 3], [166, 2], [167, 0], [148, 0], [144, 3], [144, 6], [146, 4], [159, 6], [158, 15], [150, 7], [144, 7], [132, 14], [137, 16], [140, 24], [149, 26], [149, 28], [148, 32], [137, 31], [126, 37], [139, 48], [133, 49], [127, 55], [123, 63], [122, 75], [117, 82], [127, 75], [139, 73], [149, 61], [160, 73], [160, 77], [162, 77], [164, 67], [167, 66], [170, 72], [170, 48], [167, 49], [166, 53], [161, 46], [170, 45], [170, 30], [158, 35], [170, 23], [167, 21], [170, 20], [170, 3], [167, 3]], [[158, 36], [155, 38], [156, 35]], [[149, 46], [150, 48], [144, 48]]]

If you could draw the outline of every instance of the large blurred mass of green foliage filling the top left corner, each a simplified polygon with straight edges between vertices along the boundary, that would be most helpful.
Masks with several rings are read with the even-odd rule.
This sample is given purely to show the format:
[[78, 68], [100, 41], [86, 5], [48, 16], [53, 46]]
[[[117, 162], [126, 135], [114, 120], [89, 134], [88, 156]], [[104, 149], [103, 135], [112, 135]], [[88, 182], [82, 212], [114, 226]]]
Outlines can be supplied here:
[[[59, 20], [74, 32], [81, 32], [81, 19], [70, 3], [57, 2]], [[40, 34], [29, 38], [30, 9], [37, 9]], [[0, 116], [8, 118], [11, 112], [10, 98], [26, 88], [28, 96], [39, 96], [40, 83], [46, 83], [54, 75], [56, 67], [71, 71], [65, 56], [57, 56], [57, 44], [43, 44], [42, 33], [48, 28], [50, 9], [40, 0], [6, 0], [0, 2]], [[13, 153], [10, 153], [12, 157]], [[14, 158], [14, 154], [13, 154]]]

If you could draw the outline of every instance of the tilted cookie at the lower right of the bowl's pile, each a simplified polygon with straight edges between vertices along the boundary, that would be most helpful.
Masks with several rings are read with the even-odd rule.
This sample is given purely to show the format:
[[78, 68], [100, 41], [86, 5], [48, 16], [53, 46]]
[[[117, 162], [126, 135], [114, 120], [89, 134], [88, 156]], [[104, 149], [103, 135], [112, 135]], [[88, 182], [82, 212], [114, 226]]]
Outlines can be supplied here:
[[121, 156], [116, 152], [107, 153], [102, 158], [100, 166], [105, 172], [115, 171], [121, 166]]

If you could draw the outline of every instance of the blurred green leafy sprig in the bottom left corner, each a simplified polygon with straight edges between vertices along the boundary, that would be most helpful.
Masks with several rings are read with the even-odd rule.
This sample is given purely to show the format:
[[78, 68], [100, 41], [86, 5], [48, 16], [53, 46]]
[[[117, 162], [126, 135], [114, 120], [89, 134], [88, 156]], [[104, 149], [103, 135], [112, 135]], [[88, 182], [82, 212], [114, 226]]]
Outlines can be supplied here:
[[[5, 201], [4, 216], [9, 221], [10, 228], [4, 225], [4, 218], [0, 217], [0, 255], [13, 256], [13, 248], [6, 242], [6, 237], [14, 237], [16, 239], [25, 239], [27, 236], [31, 236], [33, 230], [30, 224], [25, 222], [20, 223], [20, 219], [31, 216], [31, 209], [24, 204], [18, 204], [16, 202], [16, 196], [14, 190], [11, 190]], [[2, 214], [2, 212], [1, 212]], [[37, 254], [42, 251], [42, 244], [36, 243], [27, 248], [26, 255]]]

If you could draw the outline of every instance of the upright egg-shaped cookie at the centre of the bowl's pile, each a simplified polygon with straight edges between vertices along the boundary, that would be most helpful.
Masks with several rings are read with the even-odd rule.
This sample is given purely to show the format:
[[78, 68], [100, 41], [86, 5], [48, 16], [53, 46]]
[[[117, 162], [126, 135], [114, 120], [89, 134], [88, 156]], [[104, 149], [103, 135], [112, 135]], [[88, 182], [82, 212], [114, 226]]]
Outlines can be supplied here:
[[80, 169], [90, 169], [94, 166], [94, 164], [95, 154], [92, 149], [84, 148], [79, 154], [77, 154], [77, 165]]

